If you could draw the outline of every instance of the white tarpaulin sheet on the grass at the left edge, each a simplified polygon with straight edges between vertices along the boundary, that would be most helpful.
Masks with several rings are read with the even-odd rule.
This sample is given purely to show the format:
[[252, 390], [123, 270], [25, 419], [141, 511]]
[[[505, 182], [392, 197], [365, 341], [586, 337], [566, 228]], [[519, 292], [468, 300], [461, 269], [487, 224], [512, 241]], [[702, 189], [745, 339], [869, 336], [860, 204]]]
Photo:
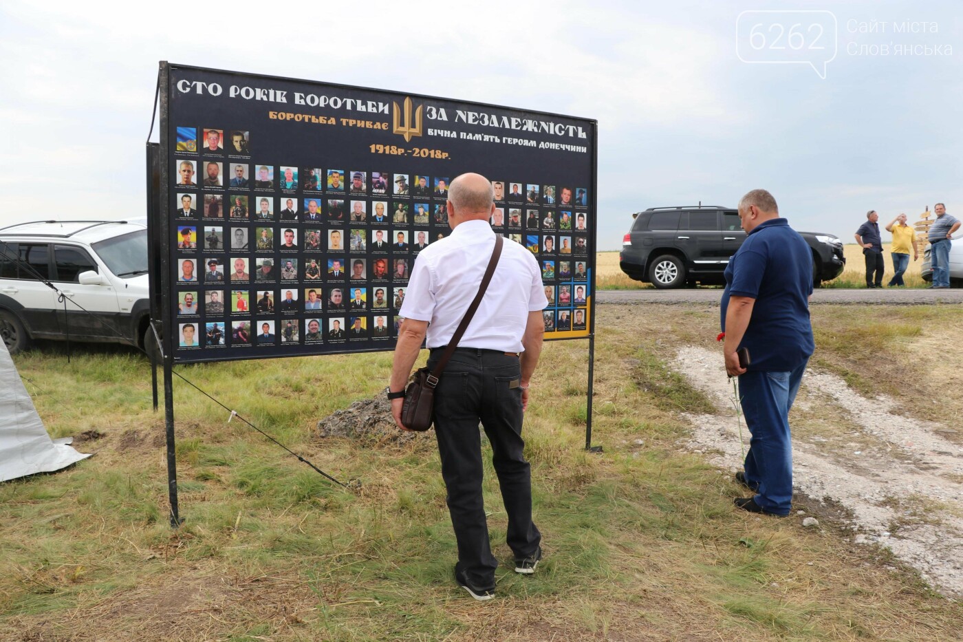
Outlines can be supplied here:
[[54, 441], [47, 435], [0, 339], [0, 482], [60, 470], [90, 457], [68, 446], [69, 441]]

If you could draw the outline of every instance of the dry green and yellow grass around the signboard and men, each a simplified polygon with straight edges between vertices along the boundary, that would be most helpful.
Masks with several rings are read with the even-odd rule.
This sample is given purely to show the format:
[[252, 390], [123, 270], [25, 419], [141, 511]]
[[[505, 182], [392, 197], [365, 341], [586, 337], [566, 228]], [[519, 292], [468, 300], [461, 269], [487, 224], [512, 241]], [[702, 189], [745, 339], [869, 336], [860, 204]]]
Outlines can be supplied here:
[[[80, 444], [96, 453], [90, 460], [0, 485], [0, 639], [958, 636], [958, 603], [885, 551], [851, 544], [815, 502], [800, 497], [796, 507], [815, 512], [822, 529], [737, 513], [731, 501], [742, 493], [730, 475], [680, 445], [689, 427], [678, 412], [710, 406], [665, 359], [683, 343], [716, 346], [715, 308], [598, 313], [594, 442], [605, 450], [583, 449], [586, 343], [546, 345], [525, 428], [546, 558], [531, 577], [500, 569], [498, 598], [484, 604], [452, 580], [455, 541], [432, 435], [374, 445], [314, 432], [319, 418], [384, 387], [389, 354], [180, 367], [229, 408], [361, 486], [330, 484], [175, 383], [186, 518], [176, 531], [166, 519], [164, 422], [150, 409], [146, 363], [98, 346], [75, 347], [70, 363], [57, 346], [18, 356], [51, 434], [100, 437]], [[925, 414], [931, 377], [946, 375], [927, 363], [940, 335], [963, 328], [963, 310], [841, 315], [823, 307], [814, 321], [819, 367], [871, 392], [899, 388], [918, 397], [906, 411]], [[886, 332], [872, 350], [852, 350], [867, 328]], [[946, 362], [950, 377], [954, 360]], [[961, 389], [940, 389], [940, 413], [960, 412]], [[485, 473], [493, 549], [507, 561], [490, 463]]]

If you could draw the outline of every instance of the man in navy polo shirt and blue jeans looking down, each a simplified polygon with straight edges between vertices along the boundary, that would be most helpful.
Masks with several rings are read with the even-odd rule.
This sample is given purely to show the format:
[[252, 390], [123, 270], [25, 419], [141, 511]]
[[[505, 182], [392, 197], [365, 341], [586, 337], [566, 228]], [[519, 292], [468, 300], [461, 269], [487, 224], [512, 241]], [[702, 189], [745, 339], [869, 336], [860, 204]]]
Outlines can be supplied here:
[[[789, 411], [815, 349], [809, 322], [813, 254], [779, 218], [766, 190], [742, 197], [739, 218], [747, 236], [725, 270], [721, 323], [725, 369], [739, 377], [742, 416], [751, 434], [745, 468], [736, 479], [756, 495], [734, 501], [751, 513], [785, 517], [793, 500]], [[749, 352], [746, 368], [739, 364], [740, 348]]]

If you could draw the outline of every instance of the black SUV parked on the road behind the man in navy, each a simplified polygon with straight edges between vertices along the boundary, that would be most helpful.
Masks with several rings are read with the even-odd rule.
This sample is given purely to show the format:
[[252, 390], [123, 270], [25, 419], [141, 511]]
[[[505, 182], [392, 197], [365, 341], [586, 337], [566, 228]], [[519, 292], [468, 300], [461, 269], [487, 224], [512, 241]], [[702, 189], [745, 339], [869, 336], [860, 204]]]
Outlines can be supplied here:
[[[696, 281], [724, 283], [729, 257], [745, 240], [739, 213], [730, 207], [650, 207], [632, 216], [635, 222], [622, 239], [619, 267], [636, 281], [660, 289]], [[819, 287], [840, 276], [846, 267], [843, 242], [832, 234], [799, 234], [813, 250], [813, 284]]]

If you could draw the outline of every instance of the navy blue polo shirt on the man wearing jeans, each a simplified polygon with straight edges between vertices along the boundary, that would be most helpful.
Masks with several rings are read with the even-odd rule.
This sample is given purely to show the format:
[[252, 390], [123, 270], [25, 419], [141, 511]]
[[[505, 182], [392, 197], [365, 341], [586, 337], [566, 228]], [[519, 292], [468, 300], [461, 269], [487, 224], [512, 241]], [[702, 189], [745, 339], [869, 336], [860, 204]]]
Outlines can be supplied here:
[[750, 370], [785, 372], [816, 349], [809, 322], [813, 253], [786, 219], [770, 219], [746, 236], [725, 269], [721, 327], [729, 297], [756, 300], [740, 348], [749, 349]]

